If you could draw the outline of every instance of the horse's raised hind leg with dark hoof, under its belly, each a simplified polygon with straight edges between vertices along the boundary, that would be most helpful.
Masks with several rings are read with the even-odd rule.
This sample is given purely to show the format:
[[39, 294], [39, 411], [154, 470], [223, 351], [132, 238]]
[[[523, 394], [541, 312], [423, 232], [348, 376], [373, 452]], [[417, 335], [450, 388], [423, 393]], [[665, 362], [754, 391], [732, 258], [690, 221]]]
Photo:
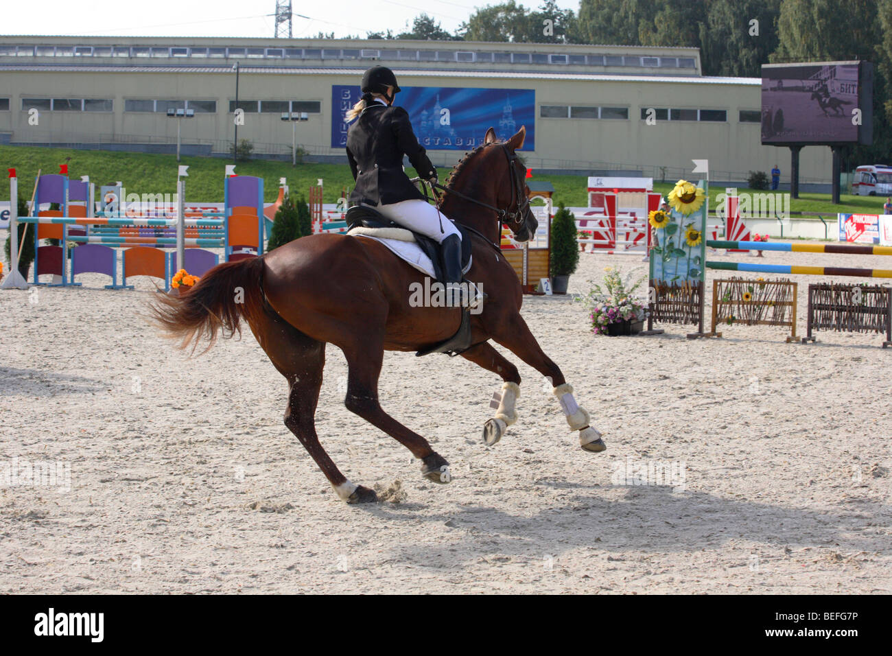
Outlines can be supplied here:
[[347, 410], [358, 414], [409, 449], [412, 455], [422, 461], [422, 476], [434, 483], [449, 483], [449, 462], [436, 453], [424, 437], [403, 426], [381, 408], [378, 401], [378, 376], [384, 363], [384, 349], [370, 345], [374, 341], [366, 339], [361, 346], [342, 349], [348, 367], [344, 405]]

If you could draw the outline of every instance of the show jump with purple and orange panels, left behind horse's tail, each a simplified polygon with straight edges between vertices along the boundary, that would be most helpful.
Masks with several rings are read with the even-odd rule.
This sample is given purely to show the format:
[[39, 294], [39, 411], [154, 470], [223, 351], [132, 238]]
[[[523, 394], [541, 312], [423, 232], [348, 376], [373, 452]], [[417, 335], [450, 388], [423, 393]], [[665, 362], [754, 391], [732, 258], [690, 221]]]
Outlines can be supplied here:
[[[180, 167], [180, 175], [187, 175]], [[107, 187], [103, 187], [103, 191]], [[120, 187], [119, 187], [120, 189]], [[132, 288], [127, 278], [161, 278], [165, 288], [174, 271], [186, 269], [201, 276], [219, 261], [217, 253], [203, 250], [222, 248], [227, 261], [254, 257], [263, 253], [263, 180], [250, 176], [231, 176], [224, 183], [223, 212], [185, 212], [185, 182], [178, 177], [175, 215], [131, 216], [114, 210], [95, 216], [95, 189], [88, 181], [69, 180], [65, 175], [41, 176], [31, 206], [31, 216], [17, 216], [18, 180], [10, 170], [12, 274], [4, 286], [25, 288], [18, 276], [17, 223], [33, 223], [35, 261], [33, 284], [41, 275], [53, 275], [61, 286], [79, 285], [80, 273], [102, 273], [111, 277], [106, 288]], [[104, 196], [104, 194], [103, 194]], [[103, 206], [105, 202], [103, 197]], [[72, 204], [82, 202], [83, 205]], [[41, 209], [58, 203], [59, 210]], [[40, 239], [58, 239], [59, 245], [39, 245]], [[77, 245], [69, 249], [69, 245]], [[176, 247], [176, 253], [165, 249]], [[70, 257], [64, 253], [70, 250]], [[119, 253], [122, 279], [118, 282]], [[69, 267], [70, 260], [70, 267]], [[179, 262], [183, 265], [178, 266]], [[58, 278], [55, 278], [58, 277]]]

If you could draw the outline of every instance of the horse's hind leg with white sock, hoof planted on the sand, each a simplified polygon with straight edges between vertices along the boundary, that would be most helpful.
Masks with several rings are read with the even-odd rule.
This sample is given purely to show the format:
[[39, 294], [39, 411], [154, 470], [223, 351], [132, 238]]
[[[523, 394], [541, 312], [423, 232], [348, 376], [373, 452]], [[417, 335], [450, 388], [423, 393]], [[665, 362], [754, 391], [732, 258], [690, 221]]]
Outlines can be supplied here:
[[[301, 441], [304, 448], [335, 492], [348, 503], [376, 502], [374, 490], [357, 486], [345, 477], [337, 465], [319, 444], [316, 434], [316, 405], [322, 386], [322, 370], [326, 363], [326, 345], [304, 335], [280, 317], [267, 315], [269, 325], [258, 336], [258, 342], [267, 352], [273, 366], [288, 381], [288, 405], [285, 408], [285, 426]], [[252, 330], [253, 330], [252, 326]], [[275, 336], [275, 340], [261, 339]]]

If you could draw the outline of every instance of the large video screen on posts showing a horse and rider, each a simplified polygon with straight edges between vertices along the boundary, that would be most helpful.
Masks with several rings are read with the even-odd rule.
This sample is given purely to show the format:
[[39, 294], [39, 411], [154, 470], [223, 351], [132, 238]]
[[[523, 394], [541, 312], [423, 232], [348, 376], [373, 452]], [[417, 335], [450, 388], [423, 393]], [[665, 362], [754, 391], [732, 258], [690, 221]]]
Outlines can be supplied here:
[[873, 64], [821, 62], [762, 67], [762, 143], [873, 142]]

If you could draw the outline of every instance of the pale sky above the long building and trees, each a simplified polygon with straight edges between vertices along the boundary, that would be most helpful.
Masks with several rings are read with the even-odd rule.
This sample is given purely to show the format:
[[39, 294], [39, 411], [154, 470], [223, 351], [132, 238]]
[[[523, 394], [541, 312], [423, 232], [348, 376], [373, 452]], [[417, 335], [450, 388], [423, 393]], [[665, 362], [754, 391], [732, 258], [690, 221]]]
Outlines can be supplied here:
[[[365, 37], [366, 32], [405, 31], [420, 13], [454, 32], [477, 7], [500, 0], [292, 0], [292, 35]], [[536, 9], [541, 0], [524, 0]], [[579, 9], [579, 0], [558, 0], [562, 9]], [[274, 37], [276, 0], [43, 0], [4, 3], [0, 29], [4, 36], [108, 37]], [[303, 17], [296, 15], [301, 14]]]

